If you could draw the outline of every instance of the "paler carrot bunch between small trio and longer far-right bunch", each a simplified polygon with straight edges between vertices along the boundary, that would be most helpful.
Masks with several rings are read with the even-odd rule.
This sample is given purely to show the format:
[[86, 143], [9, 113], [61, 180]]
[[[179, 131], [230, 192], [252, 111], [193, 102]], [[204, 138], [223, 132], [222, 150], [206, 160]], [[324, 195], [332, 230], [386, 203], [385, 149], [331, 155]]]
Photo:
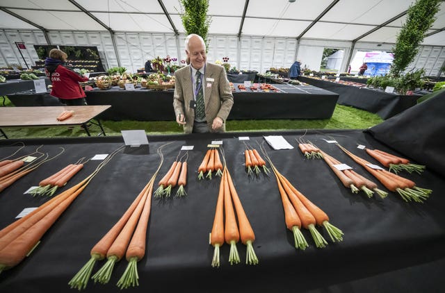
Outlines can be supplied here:
[[360, 190], [362, 190], [368, 197], [372, 197], [373, 193], [377, 192], [382, 199], [388, 195], [388, 192], [380, 190], [377, 184], [358, 174], [353, 169], [338, 169], [337, 166], [341, 165], [342, 163], [336, 158], [329, 156], [324, 151], [321, 151], [321, 154], [323, 160], [325, 160], [330, 169], [334, 171], [334, 174], [337, 175], [344, 187], [350, 188], [351, 192], [358, 193]]

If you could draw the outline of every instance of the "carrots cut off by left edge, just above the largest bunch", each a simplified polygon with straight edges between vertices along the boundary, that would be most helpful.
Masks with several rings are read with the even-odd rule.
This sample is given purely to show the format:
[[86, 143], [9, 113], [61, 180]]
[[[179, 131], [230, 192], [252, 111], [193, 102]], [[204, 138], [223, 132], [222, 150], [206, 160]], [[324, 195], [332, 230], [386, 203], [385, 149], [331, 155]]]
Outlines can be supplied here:
[[[65, 151], [65, 149], [60, 148], [61, 151], [56, 156], [49, 158], [48, 153], [45, 155], [44, 153], [41, 153], [39, 149], [42, 146], [38, 147], [33, 153], [22, 156], [20, 158], [17, 158], [15, 160], [2, 160], [0, 165], [0, 192], [2, 192], [6, 187], [9, 187], [15, 181], [17, 181], [19, 178], [22, 178], [26, 174], [29, 174], [31, 171], [37, 169], [40, 167], [40, 165], [44, 164], [45, 162], [49, 162], [49, 160], [52, 160], [54, 158], [57, 158], [60, 156], [61, 153]], [[38, 157], [35, 157], [35, 159], [32, 162], [29, 162], [28, 164], [24, 164], [24, 160], [26, 160], [27, 157], [31, 155], [37, 154]]]

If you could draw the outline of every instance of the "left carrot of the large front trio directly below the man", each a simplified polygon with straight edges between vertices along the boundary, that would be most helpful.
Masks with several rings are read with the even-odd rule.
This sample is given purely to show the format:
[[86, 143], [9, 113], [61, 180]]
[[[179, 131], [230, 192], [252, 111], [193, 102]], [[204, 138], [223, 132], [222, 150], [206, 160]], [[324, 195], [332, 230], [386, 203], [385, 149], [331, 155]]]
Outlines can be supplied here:
[[214, 247], [213, 258], [211, 260], [212, 267], [220, 266], [220, 246], [223, 246], [224, 239], [224, 178], [225, 173], [221, 176], [220, 191], [218, 193], [218, 201], [216, 201], [215, 217], [210, 233], [210, 244]]

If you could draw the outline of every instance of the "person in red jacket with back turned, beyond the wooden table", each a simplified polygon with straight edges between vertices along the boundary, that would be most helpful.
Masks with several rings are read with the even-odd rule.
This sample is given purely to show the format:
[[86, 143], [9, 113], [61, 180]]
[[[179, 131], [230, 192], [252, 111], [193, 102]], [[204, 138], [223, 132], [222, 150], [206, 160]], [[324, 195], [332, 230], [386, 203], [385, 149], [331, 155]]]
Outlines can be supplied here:
[[67, 54], [59, 49], [51, 49], [49, 57], [44, 60], [44, 71], [52, 84], [50, 95], [67, 106], [86, 105], [86, 94], [79, 82], [88, 81], [88, 77], [67, 69], [66, 60]]

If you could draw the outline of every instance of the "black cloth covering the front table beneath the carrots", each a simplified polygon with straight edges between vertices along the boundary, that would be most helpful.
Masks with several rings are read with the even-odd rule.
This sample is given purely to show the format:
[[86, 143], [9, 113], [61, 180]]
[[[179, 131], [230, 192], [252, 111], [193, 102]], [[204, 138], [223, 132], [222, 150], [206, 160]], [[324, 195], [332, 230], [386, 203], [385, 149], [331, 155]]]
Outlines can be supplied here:
[[[343, 242], [316, 249], [310, 233], [302, 231], [309, 248], [297, 251], [292, 233], [286, 229], [280, 194], [273, 175], [249, 178], [243, 165], [245, 144], [239, 136], [250, 136], [248, 143], [258, 148], [261, 135], [284, 135], [295, 147], [273, 151], [265, 148], [275, 167], [316, 205], [327, 212], [330, 222], [342, 229]], [[118, 153], [90, 185], [67, 208], [31, 256], [0, 275], [1, 292], [68, 292], [68, 281], [90, 258], [90, 249], [121, 217], [143, 189], [159, 165], [156, 149], [163, 147], [164, 163], [156, 183], [177, 158], [182, 146], [188, 151], [187, 196], [153, 199], [147, 230], [147, 252], [138, 262], [141, 292], [441, 292], [445, 269], [445, 188], [444, 178], [426, 169], [422, 175], [403, 174], [419, 187], [433, 190], [425, 203], [405, 203], [390, 193], [385, 199], [368, 199], [352, 194], [343, 187], [323, 160], [305, 159], [296, 139], [305, 139], [323, 151], [371, 178], [334, 144], [337, 140], [353, 153], [366, 157], [357, 144], [390, 151], [362, 131], [289, 131], [284, 133], [224, 133], [215, 135], [149, 136], [149, 147], [128, 148]], [[328, 136], [327, 136], [328, 135]], [[207, 144], [222, 140], [227, 168], [254, 229], [254, 249], [259, 265], [245, 265], [245, 246], [238, 243], [241, 263], [230, 265], [229, 246], [220, 249], [220, 268], [211, 267], [213, 247], [209, 232], [218, 196], [219, 178], [197, 180]], [[14, 221], [24, 208], [39, 206], [48, 199], [23, 194], [65, 165], [81, 157], [111, 153], [120, 147], [121, 137], [81, 137], [74, 139], [22, 140], [29, 153], [43, 144], [40, 151], [54, 153], [65, 148], [63, 156], [42, 165], [1, 192], [0, 227]], [[0, 157], [17, 149], [0, 142]], [[415, 141], [411, 141], [416, 147]], [[182, 151], [181, 153], [185, 153]], [[372, 160], [371, 160], [372, 161]], [[419, 163], [422, 163], [419, 161]], [[66, 187], [78, 183], [95, 169], [98, 161], [90, 160]], [[380, 188], [385, 189], [378, 184]], [[175, 192], [175, 189], [173, 190]], [[318, 231], [322, 231], [318, 228]], [[93, 274], [104, 265], [99, 261]], [[127, 267], [127, 260], [115, 265], [108, 285], [90, 281], [84, 292], [122, 292], [115, 284]], [[417, 291], [418, 290], [418, 291]]]

